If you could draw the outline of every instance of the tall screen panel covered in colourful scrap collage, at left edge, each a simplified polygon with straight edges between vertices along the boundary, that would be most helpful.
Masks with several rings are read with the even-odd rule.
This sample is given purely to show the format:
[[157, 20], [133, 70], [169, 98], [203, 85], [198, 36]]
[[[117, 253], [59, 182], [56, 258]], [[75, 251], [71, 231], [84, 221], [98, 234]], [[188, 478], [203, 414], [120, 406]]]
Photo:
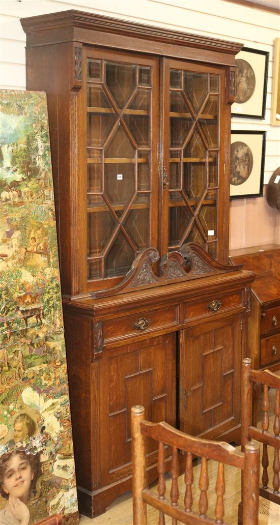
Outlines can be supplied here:
[[46, 96], [0, 98], [0, 521], [60, 513], [70, 525], [78, 509]]

